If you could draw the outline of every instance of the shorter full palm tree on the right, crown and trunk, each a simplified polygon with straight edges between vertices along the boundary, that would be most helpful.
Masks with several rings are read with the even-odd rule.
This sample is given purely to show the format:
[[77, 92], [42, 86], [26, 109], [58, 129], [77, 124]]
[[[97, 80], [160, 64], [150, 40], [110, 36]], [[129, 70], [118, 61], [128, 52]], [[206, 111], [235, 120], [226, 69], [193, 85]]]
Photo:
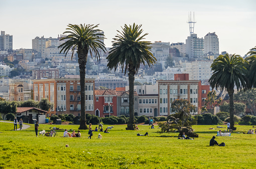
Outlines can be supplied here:
[[224, 88], [229, 95], [229, 113], [231, 129], [234, 127], [234, 86], [239, 89], [246, 89], [247, 87], [247, 65], [248, 62], [239, 55], [219, 55], [212, 63], [212, 76], [209, 79], [212, 88]]

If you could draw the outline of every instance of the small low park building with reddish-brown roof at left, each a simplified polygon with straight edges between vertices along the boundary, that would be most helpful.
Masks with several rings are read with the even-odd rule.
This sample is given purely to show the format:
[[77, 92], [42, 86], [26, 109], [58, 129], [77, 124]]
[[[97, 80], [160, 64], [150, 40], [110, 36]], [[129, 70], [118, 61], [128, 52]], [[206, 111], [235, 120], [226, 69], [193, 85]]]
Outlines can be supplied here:
[[17, 107], [14, 114], [17, 117], [23, 116], [23, 122], [33, 123], [32, 119], [37, 119], [39, 123], [45, 123], [45, 113], [47, 111], [36, 107]]

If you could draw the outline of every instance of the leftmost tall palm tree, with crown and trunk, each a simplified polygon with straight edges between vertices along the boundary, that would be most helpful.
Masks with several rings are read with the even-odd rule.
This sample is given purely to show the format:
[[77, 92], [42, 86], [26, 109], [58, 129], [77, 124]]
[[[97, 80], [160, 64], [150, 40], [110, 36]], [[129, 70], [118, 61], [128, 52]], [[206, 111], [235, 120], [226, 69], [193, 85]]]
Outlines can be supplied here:
[[[85, 83], [86, 83], [86, 63], [88, 58], [88, 52], [93, 57], [100, 58], [99, 50], [106, 51], [104, 40], [104, 34], [102, 30], [97, 29], [99, 24], [68, 24], [67, 31], [69, 33], [66, 37], [62, 37], [60, 40], [67, 40], [63, 44], [59, 45], [60, 52], [68, 53], [71, 49], [72, 56], [77, 49], [78, 63], [80, 71], [80, 92], [81, 92], [81, 118], [79, 129], [88, 129], [86, 125], [86, 95], [85, 95]], [[65, 56], [66, 56], [65, 55]]]

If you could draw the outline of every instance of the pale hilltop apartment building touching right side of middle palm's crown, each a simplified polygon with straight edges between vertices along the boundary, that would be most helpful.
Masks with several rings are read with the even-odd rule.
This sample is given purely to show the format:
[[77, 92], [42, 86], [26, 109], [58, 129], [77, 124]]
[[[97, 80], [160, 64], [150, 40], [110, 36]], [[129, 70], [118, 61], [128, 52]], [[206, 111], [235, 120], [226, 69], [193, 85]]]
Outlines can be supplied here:
[[169, 55], [169, 42], [155, 41], [150, 44], [151, 52], [157, 61], [165, 61], [166, 57]]

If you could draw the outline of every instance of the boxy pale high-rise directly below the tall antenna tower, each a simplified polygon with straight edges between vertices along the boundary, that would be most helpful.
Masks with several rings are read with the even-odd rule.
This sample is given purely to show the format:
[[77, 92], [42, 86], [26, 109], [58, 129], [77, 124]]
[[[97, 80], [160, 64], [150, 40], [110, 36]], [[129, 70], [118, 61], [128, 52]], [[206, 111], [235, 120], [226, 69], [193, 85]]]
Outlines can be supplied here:
[[189, 58], [200, 58], [204, 56], [204, 39], [198, 38], [197, 34], [191, 34], [186, 39], [186, 53]]

